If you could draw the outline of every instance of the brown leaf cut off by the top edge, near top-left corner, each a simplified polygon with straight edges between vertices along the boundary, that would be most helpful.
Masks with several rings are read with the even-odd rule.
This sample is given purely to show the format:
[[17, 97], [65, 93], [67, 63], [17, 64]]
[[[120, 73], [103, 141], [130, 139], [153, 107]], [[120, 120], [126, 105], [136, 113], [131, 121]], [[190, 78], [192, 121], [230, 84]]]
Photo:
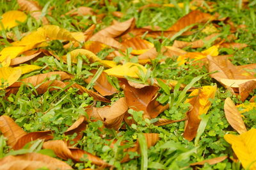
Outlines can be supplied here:
[[44, 25], [49, 24], [49, 21], [46, 19], [46, 17], [42, 16], [42, 8], [39, 6], [39, 4], [36, 1], [28, 1], [28, 0], [17, 0], [20, 9], [26, 12], [29, 12], [32, 17], [34, 17], [36, 20], [42, 19], [42, 22]]

